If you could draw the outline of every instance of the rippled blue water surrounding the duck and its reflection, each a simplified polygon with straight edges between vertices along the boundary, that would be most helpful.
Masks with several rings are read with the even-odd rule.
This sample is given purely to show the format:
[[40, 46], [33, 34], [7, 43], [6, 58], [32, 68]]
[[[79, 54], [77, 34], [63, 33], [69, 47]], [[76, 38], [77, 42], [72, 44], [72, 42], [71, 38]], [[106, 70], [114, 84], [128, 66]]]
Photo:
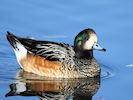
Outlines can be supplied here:
[[107, 49], [105, 53], [94, 51], [102, 67], [102, 78], [92, 100], [133, 99], [132, 4], [132, 0], [1, 0], [0, 99], [39, 99], [37, 96], [5, 97], [19, 71], [6, 31], [21, 37], [73, 44], [75, 35], [87, 27], [97, 32], [100, 44]]

